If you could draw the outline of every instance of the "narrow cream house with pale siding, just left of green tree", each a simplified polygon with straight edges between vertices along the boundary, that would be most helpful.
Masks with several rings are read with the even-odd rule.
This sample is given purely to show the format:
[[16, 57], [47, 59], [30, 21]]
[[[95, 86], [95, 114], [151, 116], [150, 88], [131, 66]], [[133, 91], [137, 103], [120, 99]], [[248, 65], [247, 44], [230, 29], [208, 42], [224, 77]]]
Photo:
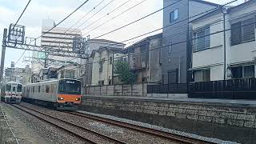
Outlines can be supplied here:
[[100, 47], [93, 50], [92, 58], [92, 86], [112, 85], [114, 76], [114, 59], [122, 57], [122, 48]]

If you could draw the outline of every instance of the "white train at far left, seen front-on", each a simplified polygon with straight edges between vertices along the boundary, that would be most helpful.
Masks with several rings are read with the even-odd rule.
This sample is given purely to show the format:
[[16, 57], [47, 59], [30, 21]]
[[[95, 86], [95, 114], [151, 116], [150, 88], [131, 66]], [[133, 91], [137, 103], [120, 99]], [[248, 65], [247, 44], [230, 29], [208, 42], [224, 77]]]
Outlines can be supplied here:
[[22, 100], [22, 83], [7, 82], [2, 84], [1, 100], [7, 103], [19, 103]]

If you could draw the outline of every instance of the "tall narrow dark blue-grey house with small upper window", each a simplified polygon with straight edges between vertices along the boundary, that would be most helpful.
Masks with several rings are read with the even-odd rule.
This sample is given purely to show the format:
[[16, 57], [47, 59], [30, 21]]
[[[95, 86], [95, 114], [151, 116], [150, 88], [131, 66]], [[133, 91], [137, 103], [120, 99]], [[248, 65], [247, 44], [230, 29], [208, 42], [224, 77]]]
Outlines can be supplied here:
[[[170, 6], [171, 5], [171, 6]], [[218, 7], [218, 4], [202, 0], [163, 1], [162, 30], [162, 83], [186, 83], [191, 81], [192, 45], [189, 40], [189, 22]], [[195, 16], [197, 15], [197, 16]]]

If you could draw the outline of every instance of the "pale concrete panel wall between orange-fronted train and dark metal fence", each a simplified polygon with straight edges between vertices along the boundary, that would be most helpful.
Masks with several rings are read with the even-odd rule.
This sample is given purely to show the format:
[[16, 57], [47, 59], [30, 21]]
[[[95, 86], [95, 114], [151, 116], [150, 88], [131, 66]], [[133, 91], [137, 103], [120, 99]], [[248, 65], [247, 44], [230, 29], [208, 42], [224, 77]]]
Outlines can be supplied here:
[[89, 86], [88, 95], [146, 97], [146, 83], [132, 85]]

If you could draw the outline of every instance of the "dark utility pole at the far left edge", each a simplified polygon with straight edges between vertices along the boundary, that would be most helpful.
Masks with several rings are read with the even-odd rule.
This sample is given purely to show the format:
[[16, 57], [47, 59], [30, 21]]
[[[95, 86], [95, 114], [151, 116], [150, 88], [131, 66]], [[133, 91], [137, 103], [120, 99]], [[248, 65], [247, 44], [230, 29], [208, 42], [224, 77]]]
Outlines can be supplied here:
[[7, 36], [7, 29], [3, 30], [3, 37], [2, 37], [2, 56], [1, 56], [1, 68], [0, 68], [0, 88], [2, 89], [2, 75], [3, 69], [5, 66], [5, 58], [6, 58], [6, 36]]

